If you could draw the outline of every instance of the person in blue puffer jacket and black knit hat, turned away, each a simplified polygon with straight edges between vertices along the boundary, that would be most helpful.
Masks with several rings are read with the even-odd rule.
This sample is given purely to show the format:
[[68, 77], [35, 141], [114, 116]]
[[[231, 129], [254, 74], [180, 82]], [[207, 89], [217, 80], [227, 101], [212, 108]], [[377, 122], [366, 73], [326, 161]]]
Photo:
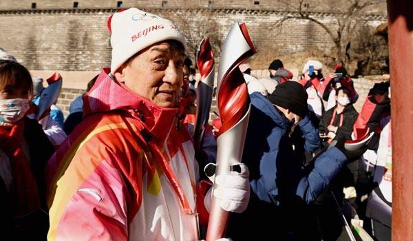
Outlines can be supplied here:
[[251, 197], [244, 213], [231, 216], [227, 233], [233, 240], [320, 240], [309, 205], [354, 156], [339, 145], [315, 158], [313, 165], [301, 166], [290, 129], [301, 129], [308, 151], [315, 151], [320, 140], [307, 117], [308, 96], [299, 83], [282, 83], [269, 98], [258, 92], [250, 98], [242, 161], [250, 170]]

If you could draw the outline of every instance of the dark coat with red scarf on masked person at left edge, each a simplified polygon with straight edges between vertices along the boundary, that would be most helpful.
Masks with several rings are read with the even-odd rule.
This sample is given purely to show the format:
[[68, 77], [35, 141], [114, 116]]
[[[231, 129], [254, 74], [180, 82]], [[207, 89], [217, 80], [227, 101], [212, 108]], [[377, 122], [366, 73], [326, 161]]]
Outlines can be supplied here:
[[14, 125], [21, 129], [1, 132], [0, 230], [4, 240], [46, 240], [44, 170], [54, 147], [37, 121]]

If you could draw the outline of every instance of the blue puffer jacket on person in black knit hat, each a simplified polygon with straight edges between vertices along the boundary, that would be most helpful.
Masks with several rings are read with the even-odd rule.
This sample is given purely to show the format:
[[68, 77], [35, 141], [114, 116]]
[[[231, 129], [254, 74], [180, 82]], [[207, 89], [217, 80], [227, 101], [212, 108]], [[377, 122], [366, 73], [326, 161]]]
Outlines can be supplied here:
[[[250, 170], [251, 191], [260, 200], [275, 205], [283, 197], [298, 196], [306, 203], [312, 202], [346, 164], [346, 156], [332, 147], [314, 165], [301, 167], [299, 160], [294, 160], [288, 136], [290, 122], [260, 93], [250, 97], [251, 115], [242, 159]], [[317, 149], [318, 132], [308, 118], [300, 121], [299, 128], [306, 150]]]

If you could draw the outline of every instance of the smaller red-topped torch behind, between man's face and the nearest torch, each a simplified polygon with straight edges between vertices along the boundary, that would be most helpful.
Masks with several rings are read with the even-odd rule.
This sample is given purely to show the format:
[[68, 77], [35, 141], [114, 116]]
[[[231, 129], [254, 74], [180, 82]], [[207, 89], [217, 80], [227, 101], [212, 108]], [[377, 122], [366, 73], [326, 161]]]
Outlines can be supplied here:
[[196, 88], [197, 109], [193, 140], [195, 147], [200, 148], [202, 137], [204, 136], [205, 124], [208, 122], [209, 111], [211, 109], [213, 77], [215, 75], [215, 63], [213, 61], [213, 52], [209, 44], [209, 38], [202, 39], [200, 45], [198, 45], [197, 63], [201, 78]]

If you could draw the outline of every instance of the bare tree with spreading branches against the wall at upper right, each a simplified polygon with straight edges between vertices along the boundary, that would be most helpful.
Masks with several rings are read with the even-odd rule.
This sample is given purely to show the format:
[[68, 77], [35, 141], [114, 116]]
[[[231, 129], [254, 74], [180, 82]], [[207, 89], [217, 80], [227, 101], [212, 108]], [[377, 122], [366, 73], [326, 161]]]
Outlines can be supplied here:
[[[330, 36], [334, 43], [335, 56], [333, 58], [343, 63], [350, 60], [351, 43], [359, 36], [359, 34], [354, 34], [354, 31], [363, 28], [368, 23], [369, 16], [366, 12], [383, 4], [380, 0], [326, 0], [325, 3], [317, 2], [317, 6], [311, 9], [310, 4], [313, 1], [310, 0], [276, 1], [284, 5], [284, 8], [290, 10], [291, 13], [276, 21], [275, 26], [281, 29], [283, 23], [290, 19], [303, 19], [315, 23]], [[317, 9], [330, 13], [336, 24], [324, 23], [321, 19], [324, 18], [323, 14], [317, 12]]]

